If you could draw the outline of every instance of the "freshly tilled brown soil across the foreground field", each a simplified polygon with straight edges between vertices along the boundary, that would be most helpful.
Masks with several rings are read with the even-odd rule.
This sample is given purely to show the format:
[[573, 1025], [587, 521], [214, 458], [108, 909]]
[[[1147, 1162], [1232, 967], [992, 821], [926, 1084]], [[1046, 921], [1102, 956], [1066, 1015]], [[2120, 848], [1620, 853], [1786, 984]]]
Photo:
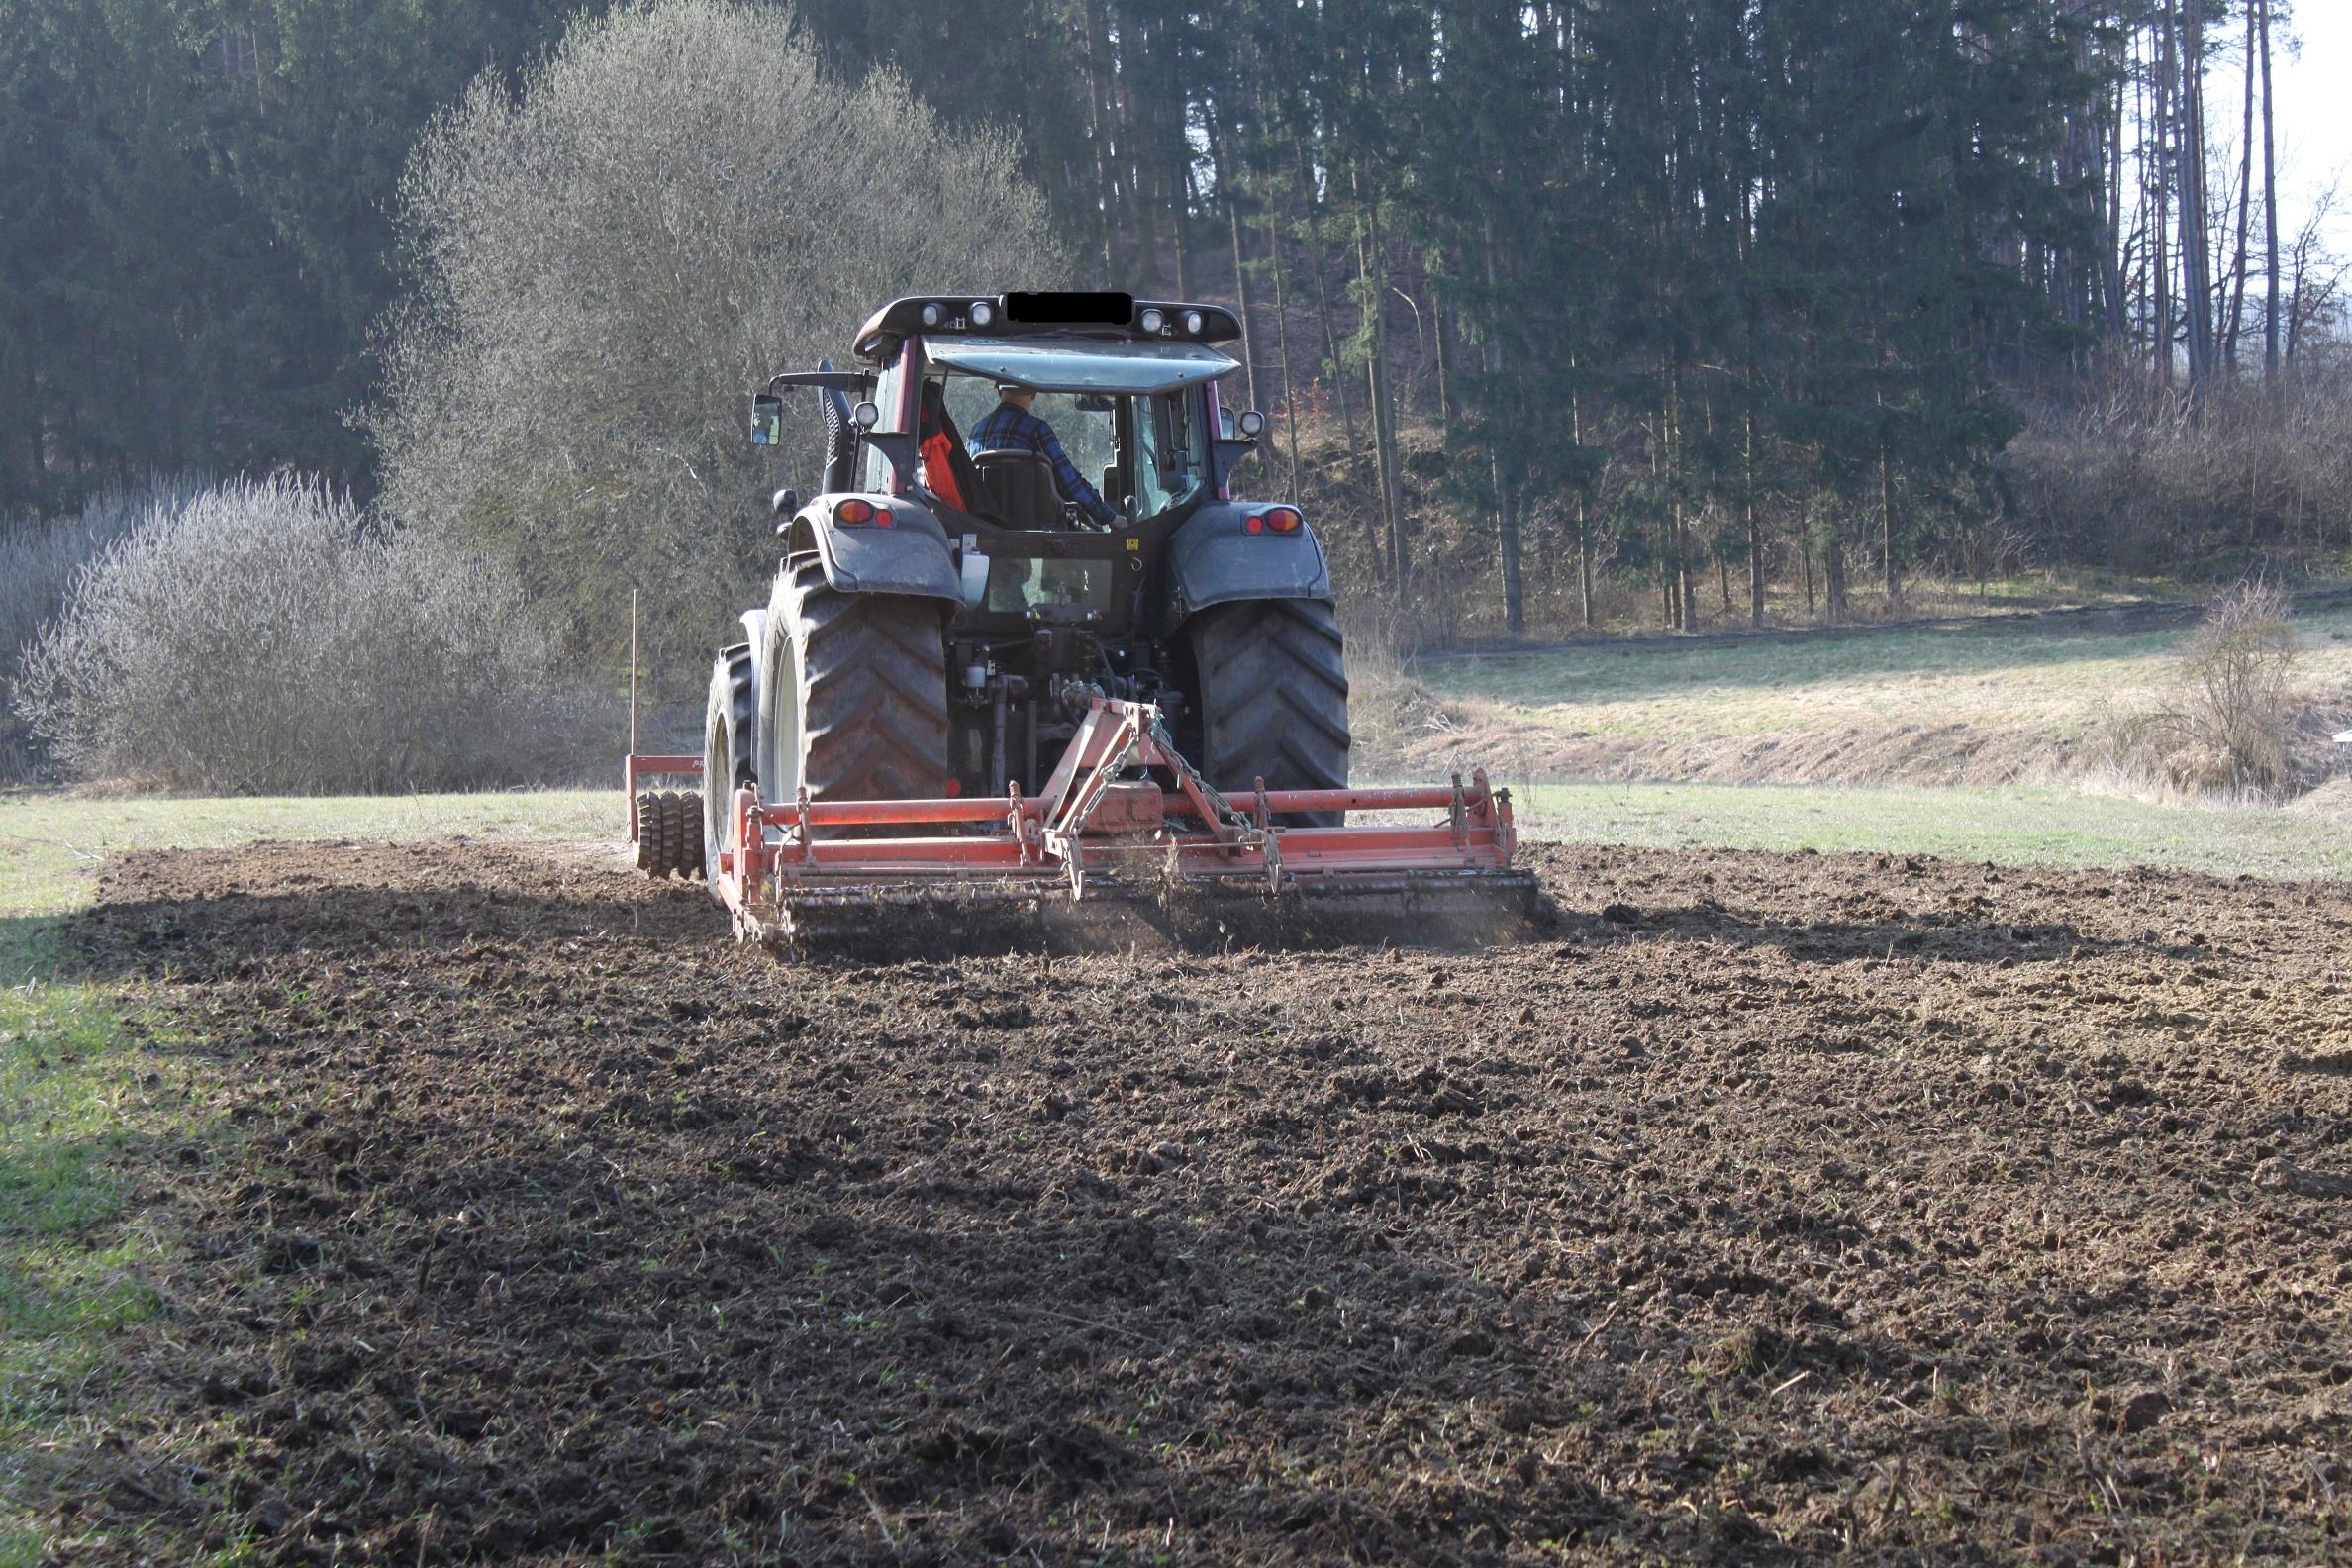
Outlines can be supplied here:
[[61, 1530], [2352, 1549], [2352, 893], [1538, 860], [1564, 924], [1496, 952], [840, 969], [602, 856], [127, 860], [82, 950], [226, 1091], [141, 1166], [148, 1418]]

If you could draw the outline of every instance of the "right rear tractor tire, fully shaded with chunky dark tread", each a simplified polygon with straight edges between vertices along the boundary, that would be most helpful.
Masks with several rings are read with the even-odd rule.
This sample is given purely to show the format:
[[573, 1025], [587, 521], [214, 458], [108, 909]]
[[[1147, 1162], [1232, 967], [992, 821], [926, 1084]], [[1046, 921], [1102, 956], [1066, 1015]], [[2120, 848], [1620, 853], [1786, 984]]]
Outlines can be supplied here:
[[[1185, 724], [1195, 766], [1240, 797], [1268, 790], [1348, 788], [1348, 656], [1338, 616], [1319, 599], [1214, 604], [1185, 625], [1195, 712]], [[1294, 813], [1336, 827], [1343, 811]]]

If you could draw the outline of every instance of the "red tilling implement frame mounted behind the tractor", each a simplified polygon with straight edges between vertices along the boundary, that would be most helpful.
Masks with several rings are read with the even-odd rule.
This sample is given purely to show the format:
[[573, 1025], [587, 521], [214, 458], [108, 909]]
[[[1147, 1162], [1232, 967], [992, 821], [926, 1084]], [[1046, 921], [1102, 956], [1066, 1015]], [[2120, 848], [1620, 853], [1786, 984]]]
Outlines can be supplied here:
[[[633, 757], [630, 785], [682, 757]], [[684, 771], [684, 769], [677, 769]], [[1157, 809], [1150, 799], [1157, 795]], [[1428, 825], [1291, 827], [1324, 811], [1442, 811]], [[908, 827], [906, 837], [828, 837]], [[934, 832], [920, 832], [920, 830]], [[748, 940], [795, 940], [891, 905], [1190, 898], [1357, 898], [1397, 912], [1531, 903], [1512, 870], [1510, 792], [1268, 790], [1225, 797], [1176, 752], [1150, 703], [1096, 698], [1040, 795], [1002, 799], [762, 802], [736, 790], [713, 891]]]

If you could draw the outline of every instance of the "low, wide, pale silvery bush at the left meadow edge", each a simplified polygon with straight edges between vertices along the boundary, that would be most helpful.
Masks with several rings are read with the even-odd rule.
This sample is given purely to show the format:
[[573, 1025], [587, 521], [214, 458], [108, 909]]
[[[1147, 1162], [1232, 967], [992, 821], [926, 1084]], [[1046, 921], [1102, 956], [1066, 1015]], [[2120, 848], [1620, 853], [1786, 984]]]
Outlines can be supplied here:
[[75, 578], [14, 696], [85, 778], [454, 790], [560, 757], [550, 654], [503, 567], [280, 477], [148, 508]]

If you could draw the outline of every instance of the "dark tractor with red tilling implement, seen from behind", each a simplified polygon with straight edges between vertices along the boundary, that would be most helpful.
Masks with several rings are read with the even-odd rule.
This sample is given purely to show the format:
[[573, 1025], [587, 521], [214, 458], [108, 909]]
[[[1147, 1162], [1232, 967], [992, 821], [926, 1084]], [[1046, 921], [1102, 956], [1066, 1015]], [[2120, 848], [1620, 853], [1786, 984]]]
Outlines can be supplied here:
[[[788, 393], [821, 400], [823, 473], [774, 496], [774, 592], [713, 663], [701, 759], [628, 762], [640, 863], [764, 940], [894, 903], [1531, 896], [1484, 776], [1350, 788], [1322, 543], [1232, 494], [1265, 430], [1218, 395], [1240, 334], [1207, 303], [927, 294], [849, 369], [757, 390], [760, 447]], [[656, 771], [701, 790], [640, 792]]]

